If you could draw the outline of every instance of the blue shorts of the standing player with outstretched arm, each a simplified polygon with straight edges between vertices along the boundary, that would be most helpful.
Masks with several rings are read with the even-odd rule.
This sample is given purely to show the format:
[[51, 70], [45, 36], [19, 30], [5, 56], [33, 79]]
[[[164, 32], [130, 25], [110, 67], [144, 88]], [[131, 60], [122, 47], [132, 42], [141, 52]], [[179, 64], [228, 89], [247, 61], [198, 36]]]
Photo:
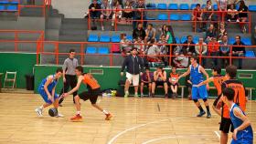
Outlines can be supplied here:
[[208, 98], [208, 89], [206, 85], [200, 87], [192, 87], [192, 99]]

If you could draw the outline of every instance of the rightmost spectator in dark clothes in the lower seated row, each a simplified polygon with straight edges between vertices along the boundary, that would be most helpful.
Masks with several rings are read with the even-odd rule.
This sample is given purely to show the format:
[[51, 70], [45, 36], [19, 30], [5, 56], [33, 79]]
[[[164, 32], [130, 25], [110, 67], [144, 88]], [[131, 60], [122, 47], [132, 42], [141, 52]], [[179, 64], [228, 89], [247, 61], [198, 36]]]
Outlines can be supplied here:
[[[233, 44], [232, 47], [232, 56], [233, 57], [244, 57], [245, 54], [245, 47], [243, 42], [240, 41], [240, 36], [236, 36], [236, 42]], [[242, 59], [239, 58], [239, 69], [242, 66]]]

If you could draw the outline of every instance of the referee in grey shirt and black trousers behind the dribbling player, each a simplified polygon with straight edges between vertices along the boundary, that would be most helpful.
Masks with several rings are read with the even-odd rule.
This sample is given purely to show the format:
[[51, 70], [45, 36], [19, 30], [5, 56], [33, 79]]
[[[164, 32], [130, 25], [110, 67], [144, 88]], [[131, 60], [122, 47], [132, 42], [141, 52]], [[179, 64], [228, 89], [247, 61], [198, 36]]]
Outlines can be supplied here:
[[[64, 87], [62, 87], [59, 96], [61, 96], [64, 93], [67, 93], [69, 91], [69, 87], [74, 88], [77, 86], [77, 77], [75, 73], [76, 67], [79, 66], [78, 59], [75, 58], [75, 50], [70, 49], [69, 50], [69, 57], [64, 61], [63, 65], [63, 82], [64, 82]], [[75, 103], [75, 96], [77, 96], [77, 92], [73, 93], [73, 102]], [[59, 99], [59, 106], [61, 107], [61, 103], [64, 100], [64, 98]]]

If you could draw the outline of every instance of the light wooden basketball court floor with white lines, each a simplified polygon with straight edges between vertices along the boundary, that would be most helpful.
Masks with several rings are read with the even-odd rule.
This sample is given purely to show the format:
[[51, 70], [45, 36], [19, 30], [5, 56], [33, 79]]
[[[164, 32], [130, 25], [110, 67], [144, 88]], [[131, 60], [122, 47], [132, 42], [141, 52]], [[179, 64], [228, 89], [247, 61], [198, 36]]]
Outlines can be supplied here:
[[[195, 118], [198, 110], [187, 99], [99, 98], [98, 103], [110, 110], [114, 118], [105, 121], [104, 115], [86, 101], [81, 108], [83, 122], [69, 121], [75, 114], [71, 97], [59, 108], [65, 118], [50, 118], [48, 108], [43, 118], [37, 118], [34, 109], [42, 102], [37, 94], [1, 93], [0, 143], [219, 143], [219, 117]], [[255, 101], [249, 102], [247, 113], [255, 129]]]

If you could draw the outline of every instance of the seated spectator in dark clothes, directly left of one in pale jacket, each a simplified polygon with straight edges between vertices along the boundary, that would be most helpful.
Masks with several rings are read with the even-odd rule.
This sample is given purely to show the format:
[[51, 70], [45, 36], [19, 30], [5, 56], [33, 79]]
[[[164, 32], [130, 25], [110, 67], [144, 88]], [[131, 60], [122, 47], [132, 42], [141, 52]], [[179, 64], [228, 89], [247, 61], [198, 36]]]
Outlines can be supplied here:
[[182, 54], [183, 55], [188, 55], [192, 56], [195, 55], [195, 43], [193, 42], [193, 37], [192, 36], [187, 36], [187, 41], [185, 41], [183, 44], [186, 44], [182, 46]]

